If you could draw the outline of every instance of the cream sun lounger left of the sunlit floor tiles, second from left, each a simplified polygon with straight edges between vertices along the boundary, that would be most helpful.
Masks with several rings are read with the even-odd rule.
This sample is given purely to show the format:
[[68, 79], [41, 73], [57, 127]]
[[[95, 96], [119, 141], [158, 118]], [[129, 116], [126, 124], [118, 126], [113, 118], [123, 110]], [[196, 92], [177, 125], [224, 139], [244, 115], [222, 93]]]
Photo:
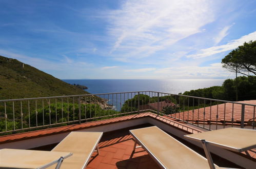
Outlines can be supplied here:
[[102, 135], [102, 132], [71, 132], [52, 150], [73, 153], [63, 161], [61, 168], [84, 168], [95, 149], [99, 154], [98, 143]]

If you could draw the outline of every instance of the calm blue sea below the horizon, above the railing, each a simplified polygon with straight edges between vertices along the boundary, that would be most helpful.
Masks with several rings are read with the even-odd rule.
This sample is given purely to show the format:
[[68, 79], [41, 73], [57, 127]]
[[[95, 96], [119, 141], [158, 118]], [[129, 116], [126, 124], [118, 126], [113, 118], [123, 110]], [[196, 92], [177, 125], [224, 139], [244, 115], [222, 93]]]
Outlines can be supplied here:
[[78, 84], [88, 87], [86, 91], [92, 94], [156, 91], [170, 94], [183, 93], [185, 91], [221, 86], [225, 79], [173, 79], [173, 80], [150, 80], [150, 79], [85, 79], [63, 81], [70, 84]]

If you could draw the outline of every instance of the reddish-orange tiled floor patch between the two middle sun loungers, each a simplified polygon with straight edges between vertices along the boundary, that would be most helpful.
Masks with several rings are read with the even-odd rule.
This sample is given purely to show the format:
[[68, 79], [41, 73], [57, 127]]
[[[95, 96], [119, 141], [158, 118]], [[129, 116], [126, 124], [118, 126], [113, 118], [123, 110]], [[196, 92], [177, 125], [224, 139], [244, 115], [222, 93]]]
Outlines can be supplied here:
[[133, 153], [133, 145], [128, 130], [106, 134], [99, 144], [100, 155], [93, 153], [86, 168], [160, 168], [142, 148]]

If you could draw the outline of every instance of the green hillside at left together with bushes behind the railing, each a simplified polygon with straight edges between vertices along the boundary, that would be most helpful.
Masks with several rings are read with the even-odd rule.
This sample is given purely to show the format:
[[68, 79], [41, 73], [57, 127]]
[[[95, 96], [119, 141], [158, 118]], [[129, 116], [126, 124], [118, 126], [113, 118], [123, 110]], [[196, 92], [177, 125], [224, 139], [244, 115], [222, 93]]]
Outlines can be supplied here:
[[[16, 59], [0, 56], [0, 100], [89, 94], [83, 90], [85, 88], [85, 86], [70, 85]], [[70, 100], [69, 104], [67, 99]], [[63, 100], [63, 104], [61, 98], [0, 102], [0, 132], [6, 131], [6, 128], [7, 131], [14, 130], [14, 126], [15, 130], [28, 128], [29, 121], [30, 127], [33, 127], [36, 126], [36, 120], [37, 126], [78, 120], [78, 102], [80, 100], [76, 97]], [[87, 117], [95, 120], [101, 114], [116, 114], [112, 110], [103, 110], [103, 105], [106, 105], [106, 100], [100, 97], [81, 98], [81, 110], [84, 112], [81, 114], [81, 118]], [[5, 118], [5, 112], [7, 118]]]

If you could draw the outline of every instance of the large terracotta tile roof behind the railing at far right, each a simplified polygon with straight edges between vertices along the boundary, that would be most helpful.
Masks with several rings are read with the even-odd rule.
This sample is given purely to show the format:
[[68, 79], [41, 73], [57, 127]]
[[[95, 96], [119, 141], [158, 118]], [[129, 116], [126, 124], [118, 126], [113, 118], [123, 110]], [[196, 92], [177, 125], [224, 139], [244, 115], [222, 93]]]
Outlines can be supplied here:
[[[239, 102], [256, 104], [256, 100], [246, 100], [246, 101], [239, 101]], [[218, 111], [217, 111], [217, 108], [218, 108]], [[176, 117], [180, 116], [181, 119], [184, 119], [185, 121], [190, 121], [190, 122], [192, 121], [193, 122], [203, 122], [203, 121], [224, 122], [225, 121], [225, 123], [231, 123], [232, 117], [233, 117], [233, 123], [240, 123], [241, 111], [242, 111], [241, 104], [233, 105], [232, 103], [223, 103], [223, 104], [219, 104], [218, 106], [212, 105], [211, 107], [206, 107], [205, 116], [204, 116], [204, 108], [195, 109], [194, 112], [190, 110], [190, 111], [185, 111], [181, 113], [176, 113], [175, 116]], [[253, 112], [254, 112], [253, 106], [245, 105], [245, 118], [244, 118], [245, 123], [253, 119]], [[218, 119], [216, 118], [217, 113], [218, 113]], [[174, 115], [172, 114], [169, 116], [172, 117]]]

